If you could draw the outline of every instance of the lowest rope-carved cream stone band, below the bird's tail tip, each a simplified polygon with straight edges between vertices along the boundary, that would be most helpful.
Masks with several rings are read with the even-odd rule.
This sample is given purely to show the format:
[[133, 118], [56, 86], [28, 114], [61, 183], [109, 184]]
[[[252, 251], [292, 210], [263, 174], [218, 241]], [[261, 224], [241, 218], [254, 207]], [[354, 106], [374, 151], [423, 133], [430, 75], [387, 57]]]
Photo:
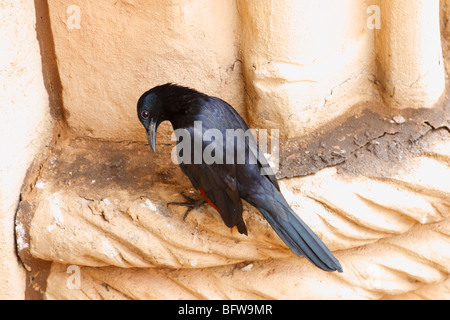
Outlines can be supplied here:
[[[80, 299], [383, 299], [410, 297], [445, 299], [448, 296], [448, 257], [430, 262], [432, 253], [415, 254], [405, 247], [408, 241], [425, 245], [430, 238], [419, 237], [425, 230], [434, 233], [435, 245], [448, 243], [447, 226], [417, 228], [398, 242], [374, 243], [336, 255], [343, 274], [317, 271], [297, 258], [247, 262], [207, 269], [121, 269], [79, 270], [82, 286], [67, 286], [67, 265], [54, 263], [49, 277], [48, 298]], [[436, 232], [445, 228], [447, 235]], [[421, 240], [420, 240], [421, 239]], [[402, 240], [405, 240], [404, 242]], [[424, 242], [422, 242], [422, 240]], [[442, 248], [445, 249], [445, 248]], [[441, 251], [442, 252], [442, 251]], [[280, 286], [283, 283], [283, 286]], [[437, 292], [431, 288], [441, 287]], [[423, 292], [423, 293], [420, 293]]]

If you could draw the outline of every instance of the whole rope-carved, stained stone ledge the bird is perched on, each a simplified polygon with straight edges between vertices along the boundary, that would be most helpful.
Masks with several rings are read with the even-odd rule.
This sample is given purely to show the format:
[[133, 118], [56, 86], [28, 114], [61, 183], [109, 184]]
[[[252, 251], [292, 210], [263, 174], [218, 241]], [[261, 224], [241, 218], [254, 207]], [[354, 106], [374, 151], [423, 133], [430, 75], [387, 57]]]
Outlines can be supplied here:
[[[445, 299], [449, 138], [447, 127], [429, 130], [415, 154], [389, 161], [392, 150], [367, 145], [341, 165], [281, 181], [343, 274], [295, 257], [249, 205], [248, 237], [209, 205], [183, 221], [185, 208], [167, 203], [200, 195], [171, 162], [172, 145], [153, 154], [141, 143], [79, 138], [57, 144], [24, 195], [32, 216], [22, 254], [29, 247], [52, 262], [49, 299]], [[373, 168], [358, 167], [364, 157]]]

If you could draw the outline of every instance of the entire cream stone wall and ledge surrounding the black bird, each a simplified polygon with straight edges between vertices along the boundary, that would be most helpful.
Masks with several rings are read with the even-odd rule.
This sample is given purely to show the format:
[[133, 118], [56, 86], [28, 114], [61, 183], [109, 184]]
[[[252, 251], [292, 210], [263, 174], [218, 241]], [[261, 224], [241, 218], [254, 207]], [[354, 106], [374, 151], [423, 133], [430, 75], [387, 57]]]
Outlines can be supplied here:
[[[447, 2], [0, 8], [11, 112], [1, 130], [18, 141], [2, 138], [15, 156], [0, 167], [0, 296], [449, 299]], [[139, 96], [166, 82], [280, 129], [282, 192], [343, 274], [295, 257], [250, 205], [249, 236], [209, 206], [185, 221], [167, 206], [199, 195], [171, 162], [169, 125], [153, 154], [136, 117]]]

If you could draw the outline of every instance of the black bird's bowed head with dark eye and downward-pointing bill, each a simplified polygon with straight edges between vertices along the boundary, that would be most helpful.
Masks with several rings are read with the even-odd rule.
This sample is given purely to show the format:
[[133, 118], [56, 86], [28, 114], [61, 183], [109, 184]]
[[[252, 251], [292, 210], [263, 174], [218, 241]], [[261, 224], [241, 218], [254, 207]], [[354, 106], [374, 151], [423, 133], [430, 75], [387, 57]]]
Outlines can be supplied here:
[[139, 121], [141, 121], [145, 130], [147, 130], [147, 139], [153, 151], [156, 151], [156, 130], [163, 122], [163, 103], [158, 95], [152, 90], [144, 93], [138, 101], [137, 112]]

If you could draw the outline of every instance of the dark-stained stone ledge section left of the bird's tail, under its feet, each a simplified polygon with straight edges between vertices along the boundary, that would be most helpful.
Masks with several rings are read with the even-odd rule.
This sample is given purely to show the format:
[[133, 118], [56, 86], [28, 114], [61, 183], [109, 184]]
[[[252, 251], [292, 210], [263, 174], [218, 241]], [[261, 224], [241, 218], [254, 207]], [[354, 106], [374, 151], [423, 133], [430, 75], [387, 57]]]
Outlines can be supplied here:
[[181, 193], [200, 195], [167, 161], [171, 148], [157, 156], [144, 144], [104, 143], [85, 157], [91, 143], [62, 148], [34, 182], [27, 196], [35, 208], [34, 257], [83, 266], [200, 268], [288, 253], [250, 207], [244, 212], [249, 237], [228, 229], [206, 205], [183, 221], [186, 209], [167, 203], [183, 201]]

